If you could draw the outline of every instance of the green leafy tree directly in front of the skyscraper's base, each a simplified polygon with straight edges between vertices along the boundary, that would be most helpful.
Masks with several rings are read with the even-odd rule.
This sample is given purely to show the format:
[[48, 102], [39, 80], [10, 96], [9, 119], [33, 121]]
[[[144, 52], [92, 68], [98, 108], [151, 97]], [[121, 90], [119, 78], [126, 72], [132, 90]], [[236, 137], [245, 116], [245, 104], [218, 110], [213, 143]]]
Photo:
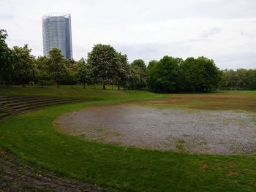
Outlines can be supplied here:
[[59, 82], [67, 77], [67, 66], [65, 66], [64, 56], [61, 54], [61, 50], [54, 47], [49, 52], [48, 60], [48, 72], [50, 77], [57, 83], [57, 88], [59, 88]]

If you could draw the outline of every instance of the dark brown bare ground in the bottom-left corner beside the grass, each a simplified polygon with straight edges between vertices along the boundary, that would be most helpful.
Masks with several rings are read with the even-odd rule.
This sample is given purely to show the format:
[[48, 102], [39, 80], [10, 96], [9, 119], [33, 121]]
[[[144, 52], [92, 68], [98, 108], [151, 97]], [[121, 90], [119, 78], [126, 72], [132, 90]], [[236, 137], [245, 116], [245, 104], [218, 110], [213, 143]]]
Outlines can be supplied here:
[[116, 191], [35, 169], [0, 148], [0, 191]]

